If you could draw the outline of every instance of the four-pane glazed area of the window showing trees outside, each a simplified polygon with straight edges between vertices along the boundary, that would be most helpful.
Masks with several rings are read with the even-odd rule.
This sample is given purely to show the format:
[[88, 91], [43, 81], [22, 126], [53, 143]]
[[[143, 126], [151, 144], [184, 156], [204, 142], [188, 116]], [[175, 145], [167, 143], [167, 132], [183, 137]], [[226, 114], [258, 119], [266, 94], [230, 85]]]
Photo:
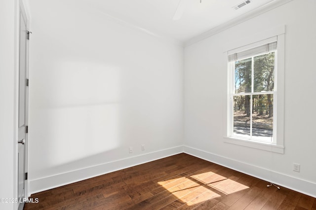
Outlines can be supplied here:
[[234, 61], [233, 136], [273, 141], [275, 51]]

